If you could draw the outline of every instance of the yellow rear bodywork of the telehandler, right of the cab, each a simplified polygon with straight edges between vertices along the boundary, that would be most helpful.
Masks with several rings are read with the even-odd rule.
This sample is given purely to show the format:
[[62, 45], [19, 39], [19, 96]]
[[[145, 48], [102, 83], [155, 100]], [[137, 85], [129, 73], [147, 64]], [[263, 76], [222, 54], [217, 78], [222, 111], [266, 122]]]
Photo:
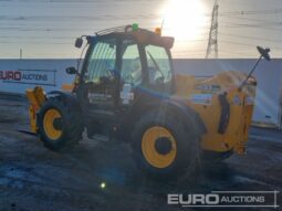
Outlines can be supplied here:
[[[212, 151], [234, 150], [244, 152], [248, 131], [251, 124], [255, 81], [251, 78], [239, 91], [246, 78], [240, 72], [222, 72], [209, 80], [196, 80], [194, 76], [176, 75], [176, 95], [185, 99], [202, 119], [207, 133], [201, 137], [201, 147]], [[229, 120], [224, 133], [219, 133], [222, 107], [219, 95], [226, 93], [229, 104]]]

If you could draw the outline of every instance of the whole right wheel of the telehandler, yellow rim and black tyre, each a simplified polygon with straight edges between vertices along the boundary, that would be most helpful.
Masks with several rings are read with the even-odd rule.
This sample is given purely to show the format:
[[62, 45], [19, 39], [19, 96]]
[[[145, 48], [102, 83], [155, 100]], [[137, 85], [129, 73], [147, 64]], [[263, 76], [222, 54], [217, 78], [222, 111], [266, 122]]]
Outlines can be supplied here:
[[194, 172], [199, 136], [166, 113], [148, 114], [135, 126], [133, 150], [137, 165], [157, 179]]

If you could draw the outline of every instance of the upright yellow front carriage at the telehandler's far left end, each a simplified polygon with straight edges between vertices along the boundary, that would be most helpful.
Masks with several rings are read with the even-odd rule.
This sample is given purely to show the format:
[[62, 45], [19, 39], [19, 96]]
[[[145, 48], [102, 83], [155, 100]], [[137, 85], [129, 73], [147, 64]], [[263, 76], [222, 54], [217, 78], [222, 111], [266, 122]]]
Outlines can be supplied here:
[[36, 134], [38, 133], [36, 112], [43, 105], [43, 103], [46, 101], [45, 93], [42, 87], [36, 86], [33, 89], [31, 89], [31, 88], [27, 89], [25, 94], [30, 102], [29, 116], [30, 116], [31, 131]]

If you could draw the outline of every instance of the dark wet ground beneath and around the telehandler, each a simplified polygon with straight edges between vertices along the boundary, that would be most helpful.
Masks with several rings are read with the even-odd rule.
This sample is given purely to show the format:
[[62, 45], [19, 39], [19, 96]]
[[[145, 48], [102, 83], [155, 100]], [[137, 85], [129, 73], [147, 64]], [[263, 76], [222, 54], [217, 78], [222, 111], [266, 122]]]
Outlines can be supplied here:
[[0, 211], [191, 210], [168, 205], [167, 194], [282, 190], [282, 133], [275, 130], [253, 128], [246, 156], [168, 183], [144, 177], [127, 145], [85, 138], [64, 152], [48, 150], [17, 131], [28, 128], [27, 110], [25, 101], [0, 96]]

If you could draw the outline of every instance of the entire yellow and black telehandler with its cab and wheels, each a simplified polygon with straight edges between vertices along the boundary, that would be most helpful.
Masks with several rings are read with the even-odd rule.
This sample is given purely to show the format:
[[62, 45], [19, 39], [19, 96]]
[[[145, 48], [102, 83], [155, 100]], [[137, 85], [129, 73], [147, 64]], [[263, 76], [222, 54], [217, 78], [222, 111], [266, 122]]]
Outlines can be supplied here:
[[209, 80], [176, 75], [174, 38], [137, 24], [79, 38], [87, 41], [72, 92], [28, 89], [32, 133], [52, 150], [73, 146], [86, 129], [129, 143], [137, 163], [153, 175], [179, 176], [200, 158], [243, 154], [255, 95], [251, 73], [222, 72]]

